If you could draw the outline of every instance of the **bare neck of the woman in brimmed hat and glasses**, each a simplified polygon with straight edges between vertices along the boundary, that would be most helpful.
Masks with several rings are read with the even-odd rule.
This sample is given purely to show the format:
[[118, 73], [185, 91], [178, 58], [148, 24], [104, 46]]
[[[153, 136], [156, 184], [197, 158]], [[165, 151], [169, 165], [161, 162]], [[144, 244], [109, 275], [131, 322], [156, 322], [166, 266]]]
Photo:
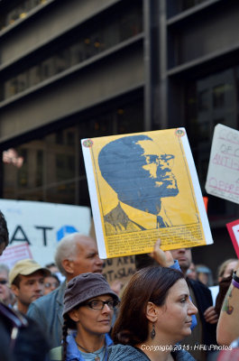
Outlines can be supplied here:
[[76, 343], [78, 348], [83, 352], [96, 352], [99, 348], [106, 344], [106, 337], [104, 335], [81, 335], [77, 333]]

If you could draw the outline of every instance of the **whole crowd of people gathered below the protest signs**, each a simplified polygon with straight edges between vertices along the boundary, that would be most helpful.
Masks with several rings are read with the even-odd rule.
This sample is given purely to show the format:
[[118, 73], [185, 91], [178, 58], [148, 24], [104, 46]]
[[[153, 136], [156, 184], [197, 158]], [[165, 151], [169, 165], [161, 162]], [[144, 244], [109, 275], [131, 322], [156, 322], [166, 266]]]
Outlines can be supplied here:
[[[0, 212], [1, 255], [8, 244]], [[121, 291], [103, 266], [95, 240], [78, 233], [61, 239], [52, 264], [0, 263], [1, 361], [239, 359], [237, 259], [218, 269], [215, 304], [210, 270], [190, 248], [162, 251], [158, 239], [135, 255]]]

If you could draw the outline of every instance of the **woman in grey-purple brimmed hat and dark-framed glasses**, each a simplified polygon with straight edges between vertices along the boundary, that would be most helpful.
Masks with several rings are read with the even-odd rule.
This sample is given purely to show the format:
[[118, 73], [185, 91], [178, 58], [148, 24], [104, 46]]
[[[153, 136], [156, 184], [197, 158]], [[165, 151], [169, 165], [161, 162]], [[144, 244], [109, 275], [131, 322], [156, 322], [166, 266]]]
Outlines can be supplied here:
[[64, 295], [63, 347], [51, 350], [51, 361], [106, 361], [112, 344], [107, 333], [118, 303], [102, 274], [82, 273], [70, 280]]

